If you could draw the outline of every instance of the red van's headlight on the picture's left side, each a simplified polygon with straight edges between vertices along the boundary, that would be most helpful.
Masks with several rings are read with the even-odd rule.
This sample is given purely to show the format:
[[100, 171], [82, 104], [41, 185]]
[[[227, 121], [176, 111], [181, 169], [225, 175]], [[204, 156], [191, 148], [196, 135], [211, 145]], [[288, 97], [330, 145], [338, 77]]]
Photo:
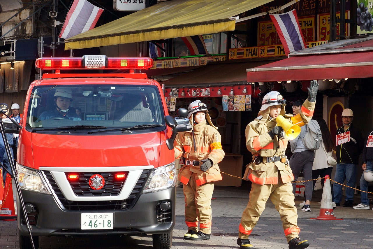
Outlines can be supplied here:
[[46, 183], [41, 178], [40, 172], [17, 164], [18, 184], [21, 189], [34, 190], [50, 194]]

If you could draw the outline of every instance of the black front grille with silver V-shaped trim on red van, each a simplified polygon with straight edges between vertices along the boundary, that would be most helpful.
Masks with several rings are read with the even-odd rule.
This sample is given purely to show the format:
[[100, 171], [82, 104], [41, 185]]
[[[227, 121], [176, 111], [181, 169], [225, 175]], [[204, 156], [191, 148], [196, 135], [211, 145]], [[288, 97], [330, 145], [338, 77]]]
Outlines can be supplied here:
[[[151, 169], [145, 169], [137, 181], [131, 194], [125, 200], [105, 200], [105, 201], [69, 201], [65, 199], [61, 190], [57, 186], [56, 181], [52, 177], [50, 171], [43, 171], [47, 181], [52, 187], [52, 191], [57, 196], [59, 201], [67, 210], [78, 210], [78, 211], [94, 211], [94, 210], [128, 210], [135, 205], [137, 199], [140, 197], [140, 193], [144, 188], [144, 185], [150, 175]], [[100, 190], [93, 190], [88, 186], [88, 180], [93, 174], [100, 174], [105, 179], [106, 188]], [[79, 173], [79, 182], [70, 183], [70, 186], [76, 196], [117, 196], [123, 187], [123, 183], [114, 183], [110, 177], [114, 175], [114, 172], [82, 172]], [[87, 180], [88, 179], [88, 180]], [[87, 182], [86, 185], [80, 184], [81, 182]], [[112, 183], [112, 184], [110, 184]]]

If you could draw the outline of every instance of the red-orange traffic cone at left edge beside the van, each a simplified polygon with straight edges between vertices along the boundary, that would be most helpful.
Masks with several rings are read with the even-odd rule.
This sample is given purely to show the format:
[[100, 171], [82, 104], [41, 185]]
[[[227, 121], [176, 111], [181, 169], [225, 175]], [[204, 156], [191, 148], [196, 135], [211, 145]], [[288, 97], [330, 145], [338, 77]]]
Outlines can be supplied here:
[[12, 177], [6, 174], [5, 189], [3, 194], [3, 204], [0, 209], [0, 220], [15, 221], [17, 218], [14, 210]]

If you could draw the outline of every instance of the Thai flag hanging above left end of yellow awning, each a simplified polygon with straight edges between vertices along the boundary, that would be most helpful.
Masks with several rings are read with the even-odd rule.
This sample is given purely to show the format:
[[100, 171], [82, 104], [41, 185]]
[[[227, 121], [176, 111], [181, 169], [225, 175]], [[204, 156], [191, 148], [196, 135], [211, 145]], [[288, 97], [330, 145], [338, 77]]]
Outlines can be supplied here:
[[74, 0], [59, 37], [67, 39], [93, 29], [103, 11], [86, 0]]

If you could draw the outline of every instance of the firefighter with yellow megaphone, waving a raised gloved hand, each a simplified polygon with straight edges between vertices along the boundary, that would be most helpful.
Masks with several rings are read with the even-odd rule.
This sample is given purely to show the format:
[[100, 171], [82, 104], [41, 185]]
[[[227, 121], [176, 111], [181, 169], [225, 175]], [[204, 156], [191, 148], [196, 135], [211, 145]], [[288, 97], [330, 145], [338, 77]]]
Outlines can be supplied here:
[[[313, 116], [317, 88], [317, 81], [311, 81], [307, 89], [308, 99], [300, 111], [305, 124]], [[285, 103], [286, 100], [277, 91], [266, 94], [260, 116], [250, 122], [245, 130], [246, 147], [253, 154], [253, 162], [248, 165], [248, 172], [244, 176], [247, 175], [247, 180], [252, 184], [250, 199], [239, 224], [237, 244], [243, 249], [253, 248], [248, 237], [264, 211], [268, 198], [280, 214], [289, 249], [307, 248], [310, 245], [307, 240], [299, 239], [297, 208], [294, 206], [291, 185], [294, 177], [285, 156], [288, 138], [283, 136], [283, 128], [276, 126], [276, 117], [285, 116]]]

